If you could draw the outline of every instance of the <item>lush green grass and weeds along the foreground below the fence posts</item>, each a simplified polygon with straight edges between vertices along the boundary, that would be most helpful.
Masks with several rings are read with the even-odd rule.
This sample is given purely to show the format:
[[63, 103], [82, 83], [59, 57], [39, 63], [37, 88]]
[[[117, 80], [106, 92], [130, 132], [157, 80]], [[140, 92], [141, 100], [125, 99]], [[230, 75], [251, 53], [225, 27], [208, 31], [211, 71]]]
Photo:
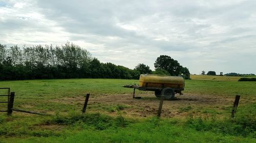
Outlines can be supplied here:
[[[65, 124], [61, 133], [31, 131], [30, 137], [13, 137], [7, 142], [254, 142], [255, 134], [244, 134], [240, 124], [190, 118], [186, 122], [150, 118], [127, 121], [94, 114], [55, 117], [48, 124]], [[104, 127], [104, 128], [102, 128]], [[71, 131], [72, 130], [72, 131]], [[23, 132], [24, 134], [24, 132]], [[26, 135], [26, 132], [25, 132]]]

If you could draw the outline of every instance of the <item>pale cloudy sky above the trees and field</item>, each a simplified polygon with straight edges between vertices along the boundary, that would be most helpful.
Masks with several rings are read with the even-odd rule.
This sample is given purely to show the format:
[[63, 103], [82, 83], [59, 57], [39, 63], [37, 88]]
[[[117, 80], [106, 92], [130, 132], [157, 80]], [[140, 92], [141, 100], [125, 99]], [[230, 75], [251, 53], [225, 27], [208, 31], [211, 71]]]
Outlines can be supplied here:
[[256, 1], [2, 1], [0, 44], [87, 49], [100, 62], [155, 70], [169, 55], [191, 74], [256, 74]]

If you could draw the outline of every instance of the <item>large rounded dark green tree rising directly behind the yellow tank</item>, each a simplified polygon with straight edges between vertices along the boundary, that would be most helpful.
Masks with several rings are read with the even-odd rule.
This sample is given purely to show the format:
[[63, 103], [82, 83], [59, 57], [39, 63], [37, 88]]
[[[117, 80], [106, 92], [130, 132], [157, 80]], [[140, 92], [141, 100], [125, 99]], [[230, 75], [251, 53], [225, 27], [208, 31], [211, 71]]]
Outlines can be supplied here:
[[182, 66], [180, 66], [180, 63], [178, 63], [178, 61], [172, 59], [168, 55], [160, 55], [154, 65], [156, 69], [164, 69], [173, 76], [178, 76], [182, 70]]

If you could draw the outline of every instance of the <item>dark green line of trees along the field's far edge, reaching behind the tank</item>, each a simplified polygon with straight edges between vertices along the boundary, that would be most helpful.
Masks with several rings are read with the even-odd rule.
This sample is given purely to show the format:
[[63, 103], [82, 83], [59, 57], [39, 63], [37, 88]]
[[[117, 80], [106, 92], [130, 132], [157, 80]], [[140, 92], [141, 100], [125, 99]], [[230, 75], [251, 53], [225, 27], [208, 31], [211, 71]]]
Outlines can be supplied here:
[[[170, 61], [165, 64], [172, 65], [175, 61], [170, 56], [161, 55]], [[162, 59], [163, 60], [163, 59]], [[158, 61], [158, 60], [157, 60]], [[157, 62], [156, 63], [159, 63]], [[178, 62], [175, 61], [177, 64]], [[61, 79], [61, 78], [120, 78], [138, 79], [140, 74], [155, 73], [166, 75], [188, 74], [187, 68], [178, 63], [176, 73], [172, 73], [172, 66], [163, 66], [155, 63], [155, 71], [144, 64], [138, 64], [134, 69], [112, 63], [101, 63], [93, 58], [91, 53], [67, 42], [61, 46], [17, 45], [7, 47], [0, 44], [0, 80], [24, 79]], [[174, 65], [175, 65], [174, 64]], [[177, 65], [176, 65], [177, 66]], [[178, 71], [179, 70], [179, 71]], [[183, 71], [182, 71], [183, 70]], [[184, 73], [184, 74], [183, 74]]]

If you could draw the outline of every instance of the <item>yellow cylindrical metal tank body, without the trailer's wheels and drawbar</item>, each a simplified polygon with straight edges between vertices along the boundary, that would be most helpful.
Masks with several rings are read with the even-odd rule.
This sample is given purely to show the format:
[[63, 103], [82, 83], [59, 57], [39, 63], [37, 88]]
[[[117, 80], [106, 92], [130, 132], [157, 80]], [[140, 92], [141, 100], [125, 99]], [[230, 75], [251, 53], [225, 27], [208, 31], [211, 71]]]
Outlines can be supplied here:
[[173, 88], [184, 90], [184, 79], [181, 76], [166, 76], [158, 74], [141, 74], [139, 86], [155, 88]]

